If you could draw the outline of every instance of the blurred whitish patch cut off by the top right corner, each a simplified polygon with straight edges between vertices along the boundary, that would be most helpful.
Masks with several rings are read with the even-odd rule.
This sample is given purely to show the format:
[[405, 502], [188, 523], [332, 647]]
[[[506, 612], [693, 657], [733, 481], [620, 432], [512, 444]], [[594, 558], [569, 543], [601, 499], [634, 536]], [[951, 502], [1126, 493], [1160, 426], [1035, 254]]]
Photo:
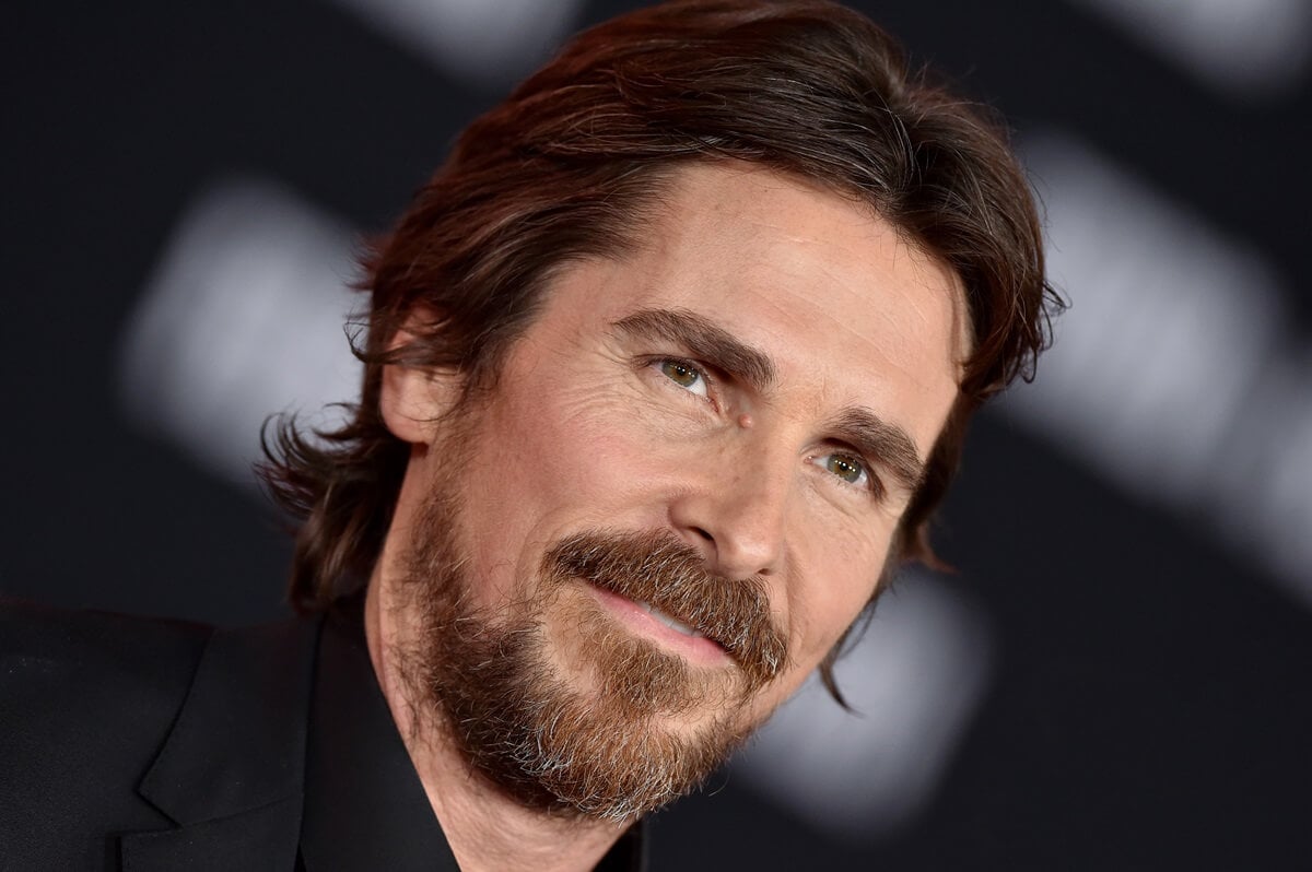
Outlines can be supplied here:
[[1073, 0], [1117, 22], [1210, 87], [1275, 96], [1312, 55], [1309, 0]]

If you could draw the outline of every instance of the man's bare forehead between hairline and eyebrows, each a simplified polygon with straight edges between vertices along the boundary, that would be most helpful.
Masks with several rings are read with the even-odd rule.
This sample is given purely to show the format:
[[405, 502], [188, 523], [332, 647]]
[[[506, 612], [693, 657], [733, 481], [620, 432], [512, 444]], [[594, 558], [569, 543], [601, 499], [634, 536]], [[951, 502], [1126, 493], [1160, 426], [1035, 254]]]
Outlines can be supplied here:
[[575, 307], [610, 324], [697, 313], [769, 355], [781, 391], [893, 414], [928, 451], [956, 393], [963, 294], [870, 207], [760, 167], [694, 164], [639, 243], [580, 277], [593, 287]]

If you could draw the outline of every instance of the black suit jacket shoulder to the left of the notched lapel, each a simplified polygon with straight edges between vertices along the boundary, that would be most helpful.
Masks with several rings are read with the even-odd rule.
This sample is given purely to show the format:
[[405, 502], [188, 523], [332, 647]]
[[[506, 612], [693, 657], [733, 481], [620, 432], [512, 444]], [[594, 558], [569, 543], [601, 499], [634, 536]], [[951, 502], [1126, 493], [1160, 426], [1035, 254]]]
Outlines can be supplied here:
[[83, 851], [94, 851], [93, 830], [164, 821], [136, 796], [136, 784], [181, 711], [213, 632], [194, 623], [0, 603], [7, 851], [25, 856], [26, 846], [50, 858], [58, 846], [80, 867]]

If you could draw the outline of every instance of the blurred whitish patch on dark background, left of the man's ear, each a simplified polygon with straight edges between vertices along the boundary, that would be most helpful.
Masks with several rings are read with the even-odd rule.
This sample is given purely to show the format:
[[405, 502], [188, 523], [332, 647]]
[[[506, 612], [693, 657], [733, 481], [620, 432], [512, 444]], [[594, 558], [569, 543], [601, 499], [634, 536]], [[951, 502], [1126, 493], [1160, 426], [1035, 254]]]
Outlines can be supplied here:
[[359, 395], [344, 325], [352, 232], [282, 188], [230, 180], [186, 210], [129, 320], [119, 361], [136, 424], [253, 484], [260, 426], [283, 410], [332, 425]]

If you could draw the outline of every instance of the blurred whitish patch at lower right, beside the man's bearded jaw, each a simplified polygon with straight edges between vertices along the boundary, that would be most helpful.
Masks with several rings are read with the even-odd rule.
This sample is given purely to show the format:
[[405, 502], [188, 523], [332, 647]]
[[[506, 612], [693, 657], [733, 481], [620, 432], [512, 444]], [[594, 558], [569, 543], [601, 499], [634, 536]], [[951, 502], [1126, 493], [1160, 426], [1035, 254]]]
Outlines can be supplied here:
[[983, 610], [907, 572], [836, 677], [812, 675], [735, 759], [735, 772], [819, 831], [867, 842], [933, 797], [979, 707], [992, 662]]

